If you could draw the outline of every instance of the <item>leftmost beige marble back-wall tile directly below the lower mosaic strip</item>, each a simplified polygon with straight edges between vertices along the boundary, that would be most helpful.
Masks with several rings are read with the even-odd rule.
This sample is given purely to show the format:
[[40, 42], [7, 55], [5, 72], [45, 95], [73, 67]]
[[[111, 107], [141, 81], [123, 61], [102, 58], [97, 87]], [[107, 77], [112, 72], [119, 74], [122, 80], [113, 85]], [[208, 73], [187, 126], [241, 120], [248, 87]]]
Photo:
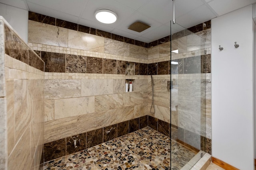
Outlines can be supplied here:
[[44, 98], [62, 99], [81, 96], [80, 79], [45, 79], [44, 80]]

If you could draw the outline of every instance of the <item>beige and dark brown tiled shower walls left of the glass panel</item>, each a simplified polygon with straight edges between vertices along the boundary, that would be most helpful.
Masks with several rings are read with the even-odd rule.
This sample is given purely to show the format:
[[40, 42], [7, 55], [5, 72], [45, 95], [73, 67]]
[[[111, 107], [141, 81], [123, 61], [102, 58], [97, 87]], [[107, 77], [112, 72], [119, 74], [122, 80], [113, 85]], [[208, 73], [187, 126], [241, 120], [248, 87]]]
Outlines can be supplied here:
[[28, 47], [1, 23], [8, 169], [38, 169], [146, 126], [170, 137], [170, 36], [143, 43], [29, 12]]

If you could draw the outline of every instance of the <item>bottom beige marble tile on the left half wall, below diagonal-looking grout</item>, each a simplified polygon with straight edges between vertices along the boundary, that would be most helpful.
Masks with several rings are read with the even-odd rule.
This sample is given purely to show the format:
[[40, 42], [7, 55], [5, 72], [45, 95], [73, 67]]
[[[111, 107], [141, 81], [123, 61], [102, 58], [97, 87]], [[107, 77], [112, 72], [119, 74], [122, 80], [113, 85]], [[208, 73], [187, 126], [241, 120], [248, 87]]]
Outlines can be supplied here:
[[[30, 128], [26, 128], [23, 131], [24, 134], [17, 141], [15, 149], [12, 151], [10, 156], [8, 157], [8, 169], [10, 170], [29, 170], [32, 159], [30, 155]], [[14, 162], [16, 160], [16, 162]]]

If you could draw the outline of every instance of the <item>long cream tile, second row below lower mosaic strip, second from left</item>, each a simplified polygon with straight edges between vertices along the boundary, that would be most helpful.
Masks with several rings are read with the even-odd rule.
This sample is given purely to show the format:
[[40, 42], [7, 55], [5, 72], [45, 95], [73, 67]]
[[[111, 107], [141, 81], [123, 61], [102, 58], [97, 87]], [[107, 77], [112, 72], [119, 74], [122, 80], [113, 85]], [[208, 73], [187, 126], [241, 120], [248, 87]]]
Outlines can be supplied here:
[[62, 119], [95, 111], [95, 96], [58, 99], [54, 103], [54, 119]]

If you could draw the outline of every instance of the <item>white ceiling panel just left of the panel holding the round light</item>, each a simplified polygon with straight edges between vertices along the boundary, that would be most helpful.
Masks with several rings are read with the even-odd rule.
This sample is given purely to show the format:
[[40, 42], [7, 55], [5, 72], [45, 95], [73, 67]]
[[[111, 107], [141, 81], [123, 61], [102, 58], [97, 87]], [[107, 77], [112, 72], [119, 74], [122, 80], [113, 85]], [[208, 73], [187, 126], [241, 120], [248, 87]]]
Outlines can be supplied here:
[[88, 0], [26, 0], [26, 1], [79, 17]]

